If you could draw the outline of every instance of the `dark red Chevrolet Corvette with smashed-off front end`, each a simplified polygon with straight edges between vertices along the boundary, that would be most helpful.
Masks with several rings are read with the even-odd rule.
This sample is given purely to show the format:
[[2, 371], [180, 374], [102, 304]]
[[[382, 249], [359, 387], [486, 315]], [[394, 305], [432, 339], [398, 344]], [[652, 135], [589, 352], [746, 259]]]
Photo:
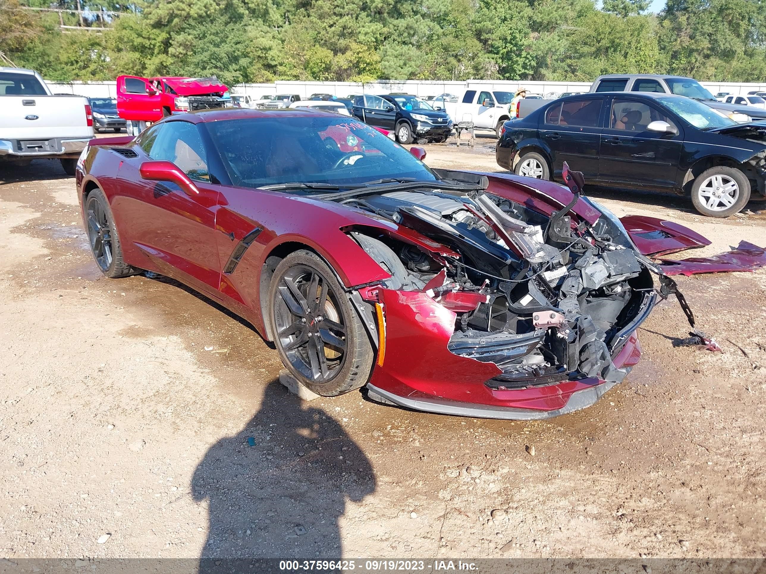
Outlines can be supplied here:
[[[333, 114], [211, 110], [92, 140], [77, 191], [106, 276], [204, 293], [314, 393], [504, 419], [594, 403], [672, 279], [581, 174], [568, 189], [424, 155]], [[683, 243], [633, 223], [648, 251]]]

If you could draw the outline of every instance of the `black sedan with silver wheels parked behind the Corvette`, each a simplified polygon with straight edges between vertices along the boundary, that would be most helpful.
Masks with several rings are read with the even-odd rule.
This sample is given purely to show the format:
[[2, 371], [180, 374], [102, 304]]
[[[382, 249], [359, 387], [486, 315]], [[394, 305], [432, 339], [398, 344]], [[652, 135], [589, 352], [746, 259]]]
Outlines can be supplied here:
[[699, 213], [728, 217], [764, 199], [766, 123], [741, 124], [694, 99], [663, 93], [590, 93], [556, 99], [505, 123], [498, 165], [561, 177], [691, 195]]

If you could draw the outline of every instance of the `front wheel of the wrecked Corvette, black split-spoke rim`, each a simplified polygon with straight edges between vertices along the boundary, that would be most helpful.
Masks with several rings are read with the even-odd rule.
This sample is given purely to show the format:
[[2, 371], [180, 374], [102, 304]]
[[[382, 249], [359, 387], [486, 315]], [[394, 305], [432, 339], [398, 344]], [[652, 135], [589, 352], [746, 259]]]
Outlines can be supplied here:
[[269, 289], [270, 327], [285, 367], [318, 395], [367, 383], [375, 353], [335, 273], [301, 249], [277, 265]]

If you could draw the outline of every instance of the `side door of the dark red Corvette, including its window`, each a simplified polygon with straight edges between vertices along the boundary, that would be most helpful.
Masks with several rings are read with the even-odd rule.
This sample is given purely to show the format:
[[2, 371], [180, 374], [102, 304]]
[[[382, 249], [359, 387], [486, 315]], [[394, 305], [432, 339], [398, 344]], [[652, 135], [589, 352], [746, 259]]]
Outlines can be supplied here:
[[[132, 201], [120, 209], [134, 243], [163, 275], [215, 295], [221, 274], [214, 236], [219, 193], [210, 181], [199, 128], [174, 120], [150, 129], [155, 130], [148, 134], [152, 139], [147, 142], [142, 135], [142, 149], [136, 149], [143, 152], [139, 161], [119, 170], [120, 179], [133, 183]], [[143, 180], [140, 165], [151, 160], [174, 163], [194, 182], [196, 191], [169, 181]]]

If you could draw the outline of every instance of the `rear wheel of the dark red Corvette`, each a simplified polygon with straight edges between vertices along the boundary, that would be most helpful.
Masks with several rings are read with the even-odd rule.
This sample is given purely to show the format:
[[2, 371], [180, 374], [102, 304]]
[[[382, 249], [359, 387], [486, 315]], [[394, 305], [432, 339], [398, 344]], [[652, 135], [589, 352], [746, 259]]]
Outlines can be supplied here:
[[123, 248], [119, 244], [119, 233], [109, 201], [99, 188], [90, 191], [85, 198], [85, 225], [90, 253], [93, 253], [96, 265], [105, 276], [118, 279], [140, 272], [140, 269], [129, 266], [123, 259]]

